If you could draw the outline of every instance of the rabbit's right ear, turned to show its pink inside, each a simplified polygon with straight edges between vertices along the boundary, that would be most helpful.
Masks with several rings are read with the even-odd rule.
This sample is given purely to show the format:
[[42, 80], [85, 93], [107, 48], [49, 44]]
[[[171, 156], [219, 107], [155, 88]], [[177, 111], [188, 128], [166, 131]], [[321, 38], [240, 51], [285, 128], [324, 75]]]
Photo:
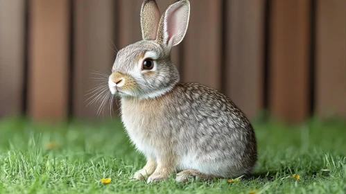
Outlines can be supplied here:
[[159, 21], [157, 42], [164, 46], [175, 46], [182, 42], [189, 25], [190, 3], [179, 0], [171, 4]]

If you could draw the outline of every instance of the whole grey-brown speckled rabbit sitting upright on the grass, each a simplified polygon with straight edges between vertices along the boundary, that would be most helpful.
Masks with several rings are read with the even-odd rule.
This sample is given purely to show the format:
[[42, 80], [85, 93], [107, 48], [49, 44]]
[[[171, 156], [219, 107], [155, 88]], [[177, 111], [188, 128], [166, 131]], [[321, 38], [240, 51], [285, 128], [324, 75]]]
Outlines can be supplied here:
[[182, 42], [190, 3], [171, 3], [162, 17], [155, 0], [141, 6], [142, 40], [116, 55], [108, 87], [121, 101], [121, 121], [146, 157], [133, 178], [176, 182], [232, 178], [251, 173], [257, 143], [248, 118], [225, 95], [197, 83], [180, 83], [170, 60]]

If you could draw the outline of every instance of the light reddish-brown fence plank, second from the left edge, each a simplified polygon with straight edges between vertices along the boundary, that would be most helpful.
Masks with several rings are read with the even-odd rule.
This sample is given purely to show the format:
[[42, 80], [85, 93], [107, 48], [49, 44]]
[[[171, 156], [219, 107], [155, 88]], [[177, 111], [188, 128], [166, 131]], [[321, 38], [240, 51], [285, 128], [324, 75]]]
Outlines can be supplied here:
[[35, 119], [67, 116], [69, 1], [29, 1], [28, 113]]

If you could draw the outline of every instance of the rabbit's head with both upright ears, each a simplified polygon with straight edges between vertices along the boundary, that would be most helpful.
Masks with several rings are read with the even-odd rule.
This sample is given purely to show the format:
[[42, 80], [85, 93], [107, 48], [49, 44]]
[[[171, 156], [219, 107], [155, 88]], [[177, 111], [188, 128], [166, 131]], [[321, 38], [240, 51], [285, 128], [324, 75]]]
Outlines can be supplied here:
[[172, 46], [182, 42], [189, 24], [190, 3], [172, 3], [160, 19], [155, 0], [141, 6], [143, 40], [121, 49], [109, 78], [112, 94], [135, 98], [155, 98], [170, 91], [179, 82], [179, 73], [171, 62]]

